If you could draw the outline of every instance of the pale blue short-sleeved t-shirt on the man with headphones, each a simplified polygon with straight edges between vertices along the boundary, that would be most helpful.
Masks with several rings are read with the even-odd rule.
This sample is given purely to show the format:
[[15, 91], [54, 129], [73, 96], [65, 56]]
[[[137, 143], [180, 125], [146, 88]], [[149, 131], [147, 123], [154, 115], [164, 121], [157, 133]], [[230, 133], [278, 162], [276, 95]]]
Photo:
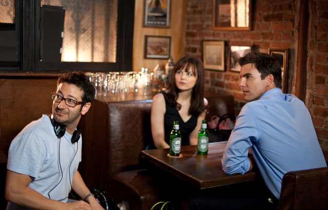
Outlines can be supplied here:
[[[47, 198], [67, 202], [71, 181], [81, 161], [81, 137], [55, 135], [47, 115], [28, 124], [13, 139], [7, 169], [33, 177], [29, 187]], [[60, 155], [58, 155], [58, 151]]]

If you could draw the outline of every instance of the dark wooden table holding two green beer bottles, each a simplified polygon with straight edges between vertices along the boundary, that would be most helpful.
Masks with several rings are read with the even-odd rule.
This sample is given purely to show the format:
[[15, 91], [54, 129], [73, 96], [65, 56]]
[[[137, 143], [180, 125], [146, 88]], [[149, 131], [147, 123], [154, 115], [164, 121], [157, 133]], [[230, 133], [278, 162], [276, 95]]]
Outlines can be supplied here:
[[143, 150], [141, 157], [169, 173], [195, 185], [198, 189], [214, 188], [227, 184], [255, 180], [255, 172], [226, 174], [221, 158], [227, 142], [209, 144], [207, 155], [198, 155], [197, 146], [181, 147], [182, 157], [169, 157], [169, 149]]

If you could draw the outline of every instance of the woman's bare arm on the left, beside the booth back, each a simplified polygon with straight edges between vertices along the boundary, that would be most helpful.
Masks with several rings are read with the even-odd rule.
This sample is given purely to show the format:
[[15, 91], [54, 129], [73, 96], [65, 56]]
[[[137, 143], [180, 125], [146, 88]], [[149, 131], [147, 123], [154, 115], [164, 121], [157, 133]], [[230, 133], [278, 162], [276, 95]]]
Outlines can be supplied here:
[[170, 148], [165, 142], [164, 131], [164, 114], [166, 112], [165, 99], [163, 94], [156, 94], [153, 98], [152, 110], [151, 110], [151, 127], [152, 136], [156, 148]]

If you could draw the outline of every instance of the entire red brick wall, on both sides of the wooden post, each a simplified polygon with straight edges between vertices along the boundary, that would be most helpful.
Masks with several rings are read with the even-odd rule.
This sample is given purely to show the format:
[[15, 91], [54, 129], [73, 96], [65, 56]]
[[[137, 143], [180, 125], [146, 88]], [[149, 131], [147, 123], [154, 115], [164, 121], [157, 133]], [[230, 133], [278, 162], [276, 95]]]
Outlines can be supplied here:
[[[269, 47], [288, 48], [288, 92], [295, 94], [296, 58], [301, 0], [252, 1], [251, 31], [212, 30], [212, 0], [188, 0], [186, 16], [186, 54], [202, 58], [202, 40], [226, 42], [224, 72], [207, 70], [206, 91], [235, 97], [236, 114], [246, 103], [237, 85], [239, 74], [229, 70], [228, 46], [252, 44], [256, 51], [267, 53]], [[309, 108], [319, 142], [328, 150], [328, 1], [309, 0], [308, 79], [305, 104]]]

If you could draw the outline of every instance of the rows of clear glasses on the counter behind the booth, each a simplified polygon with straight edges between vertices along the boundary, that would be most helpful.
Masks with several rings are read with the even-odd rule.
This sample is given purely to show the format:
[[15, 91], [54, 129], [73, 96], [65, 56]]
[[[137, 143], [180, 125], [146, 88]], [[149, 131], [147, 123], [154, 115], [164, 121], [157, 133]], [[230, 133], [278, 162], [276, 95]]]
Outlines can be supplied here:
[[141, 72], [86, 73], [96, 89], [96, 96], [108, 96], [117, 93], [138, 92], [147, 95], [152, 91], [153, 73], [147, 68]]

